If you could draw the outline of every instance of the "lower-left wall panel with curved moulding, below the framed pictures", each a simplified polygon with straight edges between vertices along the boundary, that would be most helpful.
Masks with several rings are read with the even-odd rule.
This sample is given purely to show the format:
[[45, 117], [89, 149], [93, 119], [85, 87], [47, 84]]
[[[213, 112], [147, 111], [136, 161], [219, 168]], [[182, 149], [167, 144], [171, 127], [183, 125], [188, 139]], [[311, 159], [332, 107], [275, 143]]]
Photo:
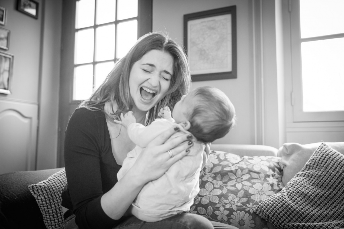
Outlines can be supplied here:
[[35, 170], [37, 104], [0, 101], [0, 174]]

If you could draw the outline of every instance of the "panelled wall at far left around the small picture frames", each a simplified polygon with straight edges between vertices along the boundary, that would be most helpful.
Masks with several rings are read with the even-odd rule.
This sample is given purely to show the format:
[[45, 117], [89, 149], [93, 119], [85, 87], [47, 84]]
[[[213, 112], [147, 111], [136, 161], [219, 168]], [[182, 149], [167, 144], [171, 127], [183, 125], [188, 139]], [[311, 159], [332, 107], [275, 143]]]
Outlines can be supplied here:
[[12, 94], [0, 93], [0, 173], [56, 168], [62, 0], [40, 0], [38, 19], [17, 0], [1, 7], [14, 61]]

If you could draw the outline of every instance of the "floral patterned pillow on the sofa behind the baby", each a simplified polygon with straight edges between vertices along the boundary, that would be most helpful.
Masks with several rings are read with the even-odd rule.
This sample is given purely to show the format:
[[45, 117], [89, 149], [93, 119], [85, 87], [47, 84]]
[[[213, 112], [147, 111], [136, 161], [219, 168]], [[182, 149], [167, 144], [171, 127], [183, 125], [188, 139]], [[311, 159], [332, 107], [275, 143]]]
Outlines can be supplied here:
[[190, 213], [240, 229], [274, 228], [254, 208], [282, 190], [280, 159], [211, 151]]

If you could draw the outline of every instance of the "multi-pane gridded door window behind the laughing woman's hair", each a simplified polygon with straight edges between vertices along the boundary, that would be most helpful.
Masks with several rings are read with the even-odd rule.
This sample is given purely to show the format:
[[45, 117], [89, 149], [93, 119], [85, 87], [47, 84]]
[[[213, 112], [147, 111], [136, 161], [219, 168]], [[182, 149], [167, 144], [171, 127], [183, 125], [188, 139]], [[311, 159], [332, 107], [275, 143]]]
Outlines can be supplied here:
[[138, 0], [79, 0], [73, 100], [87, 99], [138, 38]]

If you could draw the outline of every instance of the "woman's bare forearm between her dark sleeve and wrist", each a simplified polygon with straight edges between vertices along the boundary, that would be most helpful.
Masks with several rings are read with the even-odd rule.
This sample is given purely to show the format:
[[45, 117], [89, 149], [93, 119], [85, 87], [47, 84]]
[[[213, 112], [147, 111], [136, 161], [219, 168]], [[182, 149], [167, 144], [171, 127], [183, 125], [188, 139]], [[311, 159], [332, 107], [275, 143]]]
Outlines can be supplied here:
[[111, 219], [120, 219], [134, 201], [144, 183], [133, 169], [105, 193], [100, 200], [101, 207]]

